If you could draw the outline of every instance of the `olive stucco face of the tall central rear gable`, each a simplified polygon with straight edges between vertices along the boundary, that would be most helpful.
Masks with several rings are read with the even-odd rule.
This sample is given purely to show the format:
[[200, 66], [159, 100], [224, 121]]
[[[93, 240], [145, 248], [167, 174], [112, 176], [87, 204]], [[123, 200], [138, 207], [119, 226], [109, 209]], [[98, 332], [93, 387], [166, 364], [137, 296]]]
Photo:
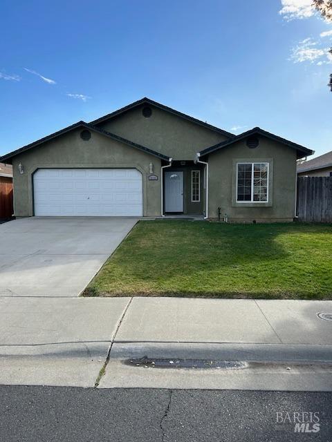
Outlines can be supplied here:
[[173, 160], [194, 160], [196, 152], [228, 140], [222, 133], [163, 111], [155, 106], [152, 115], [142, 115], [144, 105], [113, 117], [98, 126], [154, 151], [169, 155]]

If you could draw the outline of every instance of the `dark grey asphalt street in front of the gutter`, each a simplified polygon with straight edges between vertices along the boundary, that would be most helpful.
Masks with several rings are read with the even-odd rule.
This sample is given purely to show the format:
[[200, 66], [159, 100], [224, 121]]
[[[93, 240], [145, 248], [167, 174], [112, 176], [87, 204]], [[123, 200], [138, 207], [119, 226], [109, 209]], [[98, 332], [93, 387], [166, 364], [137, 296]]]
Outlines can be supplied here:
[[[331, 392], [0, 386], [0, 439], [328, 442], [331, 403]], [[297, 434], [287, 422], [277, 426], [277, 412], [318, 413], [320, 431]]]

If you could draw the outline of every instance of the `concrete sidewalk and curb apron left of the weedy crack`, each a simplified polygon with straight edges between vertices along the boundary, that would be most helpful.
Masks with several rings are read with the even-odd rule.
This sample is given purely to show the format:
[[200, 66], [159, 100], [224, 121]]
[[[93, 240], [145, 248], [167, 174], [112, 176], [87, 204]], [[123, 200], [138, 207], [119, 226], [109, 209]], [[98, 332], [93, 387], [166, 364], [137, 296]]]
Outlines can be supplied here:
[[128, 298], [0, 298], [0, 384], [91, 387]]

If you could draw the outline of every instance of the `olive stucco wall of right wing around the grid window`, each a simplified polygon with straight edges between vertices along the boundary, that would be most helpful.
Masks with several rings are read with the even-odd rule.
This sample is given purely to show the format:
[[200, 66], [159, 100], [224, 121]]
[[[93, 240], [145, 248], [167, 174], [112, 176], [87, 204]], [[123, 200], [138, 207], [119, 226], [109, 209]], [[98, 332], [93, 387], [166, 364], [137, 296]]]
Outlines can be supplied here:
[[[291, 221], [295, 216], [296, 151], [266, 137], [250, 149], [241, 140], [209, 155], [209, 218], [228, 215], [241, 220]], [[268, 162], [270, 165], [267, 203], [236, 202], [237, 162]]]

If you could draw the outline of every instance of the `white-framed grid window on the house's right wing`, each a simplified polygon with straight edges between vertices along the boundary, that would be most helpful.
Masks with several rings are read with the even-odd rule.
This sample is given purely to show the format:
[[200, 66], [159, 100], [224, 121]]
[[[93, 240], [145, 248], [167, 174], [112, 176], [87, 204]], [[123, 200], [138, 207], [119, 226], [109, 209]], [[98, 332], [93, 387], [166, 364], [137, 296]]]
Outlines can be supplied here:
[[237, 202], [268, 202], [268, 163], [237, 163]]

